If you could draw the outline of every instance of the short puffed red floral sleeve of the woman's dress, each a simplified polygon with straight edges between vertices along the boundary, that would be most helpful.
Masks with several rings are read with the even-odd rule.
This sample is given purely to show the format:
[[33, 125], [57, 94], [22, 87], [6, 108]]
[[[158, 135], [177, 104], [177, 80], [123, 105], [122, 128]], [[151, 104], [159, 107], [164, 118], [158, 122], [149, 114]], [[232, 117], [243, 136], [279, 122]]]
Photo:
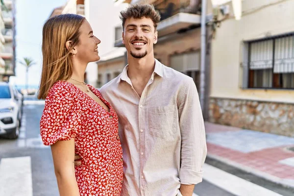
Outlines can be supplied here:
[[73, 91], [64, 84], [52, 88], [46, 98], [40, 121], [40, 133], [44, 145], [71, 140], [81, 129], [81, 108]]

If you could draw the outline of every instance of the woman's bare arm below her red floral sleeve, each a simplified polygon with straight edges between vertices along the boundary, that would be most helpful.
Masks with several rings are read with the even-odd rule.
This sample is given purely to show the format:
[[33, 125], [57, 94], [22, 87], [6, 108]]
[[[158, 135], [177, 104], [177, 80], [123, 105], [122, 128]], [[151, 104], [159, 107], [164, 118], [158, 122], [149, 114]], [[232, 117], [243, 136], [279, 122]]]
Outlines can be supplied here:
[[60, 196], [80, 196], [74, 174], [74, 138], [51, 145]]

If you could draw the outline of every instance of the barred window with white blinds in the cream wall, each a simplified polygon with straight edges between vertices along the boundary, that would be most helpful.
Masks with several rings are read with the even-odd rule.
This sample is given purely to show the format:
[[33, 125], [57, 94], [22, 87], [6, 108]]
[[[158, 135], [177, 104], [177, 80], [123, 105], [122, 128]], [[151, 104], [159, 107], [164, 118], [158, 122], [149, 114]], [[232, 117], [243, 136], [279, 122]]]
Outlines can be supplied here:
[[245, 45], [243, 87], [294, 89], [294, 34]]

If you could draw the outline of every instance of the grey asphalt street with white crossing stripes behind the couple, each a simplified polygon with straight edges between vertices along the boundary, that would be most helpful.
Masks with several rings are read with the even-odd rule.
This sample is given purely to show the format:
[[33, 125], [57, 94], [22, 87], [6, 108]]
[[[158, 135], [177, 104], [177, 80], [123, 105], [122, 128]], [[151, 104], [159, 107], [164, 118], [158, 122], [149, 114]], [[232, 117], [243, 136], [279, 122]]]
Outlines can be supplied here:
[[[50, 148], [39, 122], [44, 105], [25, 105], [20, 137], [0, 139], [0, 196], [58, 196]], [[220, 168], [220, 169], [218, 169]], [[291, 196], [293, 190], [207, 159], [195, 196]]]

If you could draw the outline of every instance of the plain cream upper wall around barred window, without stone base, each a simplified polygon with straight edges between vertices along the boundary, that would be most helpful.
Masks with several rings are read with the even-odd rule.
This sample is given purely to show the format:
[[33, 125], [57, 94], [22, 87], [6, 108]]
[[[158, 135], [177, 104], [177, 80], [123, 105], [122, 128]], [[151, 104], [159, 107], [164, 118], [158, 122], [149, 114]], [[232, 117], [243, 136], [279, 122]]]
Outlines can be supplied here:
[[242, 19], [228, 19], [216, 29], [216, 38], [212, 40], [211, 48], [211, 97], [294, 103], [294, 91], [240, 88], [243, 41], [294, 31], [293, 24], [288, 20], [294, 18], [293, 0], [254, 11], [277, 1], [281, 0], [245, 0]]

